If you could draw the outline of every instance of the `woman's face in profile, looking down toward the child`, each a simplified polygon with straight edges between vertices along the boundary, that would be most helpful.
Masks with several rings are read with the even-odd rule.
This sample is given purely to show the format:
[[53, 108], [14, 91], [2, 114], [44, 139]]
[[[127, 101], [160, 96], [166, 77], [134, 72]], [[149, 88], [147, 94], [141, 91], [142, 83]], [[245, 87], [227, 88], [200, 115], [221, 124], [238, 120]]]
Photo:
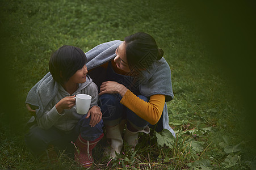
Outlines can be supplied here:
[[114, 62], [118, 69], [129, 73], [131, 70], [129, 69], [129, 65], [126, 58], [126, 45], [124, 41], [117, 47], [116, 49], [116, 57], [114, 58]]

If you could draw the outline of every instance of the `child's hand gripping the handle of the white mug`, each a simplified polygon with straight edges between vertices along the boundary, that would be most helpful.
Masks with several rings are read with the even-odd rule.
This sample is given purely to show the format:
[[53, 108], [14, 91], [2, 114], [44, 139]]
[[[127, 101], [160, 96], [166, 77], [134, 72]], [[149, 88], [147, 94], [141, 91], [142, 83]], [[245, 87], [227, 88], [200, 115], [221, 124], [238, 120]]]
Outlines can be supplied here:
[[71, 109], [75, 105], [75, 96], [68, 96], [61, 99], [56, 104], [56, 109], [58, 113], [62, 113], [64, 109]]

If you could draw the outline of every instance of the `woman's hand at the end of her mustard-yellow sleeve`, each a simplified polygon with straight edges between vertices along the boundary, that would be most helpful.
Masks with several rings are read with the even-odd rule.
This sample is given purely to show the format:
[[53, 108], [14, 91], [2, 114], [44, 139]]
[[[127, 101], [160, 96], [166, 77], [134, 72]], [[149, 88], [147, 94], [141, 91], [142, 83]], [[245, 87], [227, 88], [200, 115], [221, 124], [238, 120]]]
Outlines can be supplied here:
[[128, 89], [123, 84], [107, 81], [107, 82], [103, 82], [102, 85], [100, 86], [99, 95], [119, 94], [123, 97], [125, 92], [127, 92], [127, 90]]

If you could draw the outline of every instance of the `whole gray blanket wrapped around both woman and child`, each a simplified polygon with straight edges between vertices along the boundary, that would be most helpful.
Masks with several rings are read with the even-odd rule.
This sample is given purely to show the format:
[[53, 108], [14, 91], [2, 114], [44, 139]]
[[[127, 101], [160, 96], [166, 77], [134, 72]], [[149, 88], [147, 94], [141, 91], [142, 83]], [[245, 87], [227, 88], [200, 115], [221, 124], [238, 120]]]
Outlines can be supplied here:
[[[86, 52], [87, 69], [91, 70], [113, 59], [116, 56], [115, 50], [121, 42], [120, 40], [105, 42]], [[141, 94], [147, 97], [161, 94], [166, 95], [166, 101], [173, 99], [171, 70], [164, 58], [154, 62], [149, 69], [141, 72], [139, 88]], [[43, 92], [40, 93], [40, 89], [43, 89]], [[52, 79], [51, 74], [48, 73], [28, 93], [26, 103], [39, 107], [36, 109], [36, 114], [40, 116], [43, 113], [43, 108], [46, 108], [49, 101], [56, 95], [57, 90], [58, 84]], [[173, 129], [169, 126], [166, 104], [163, 108], [162, 125], [163, 129], [170, 130], [175, 136]]]

